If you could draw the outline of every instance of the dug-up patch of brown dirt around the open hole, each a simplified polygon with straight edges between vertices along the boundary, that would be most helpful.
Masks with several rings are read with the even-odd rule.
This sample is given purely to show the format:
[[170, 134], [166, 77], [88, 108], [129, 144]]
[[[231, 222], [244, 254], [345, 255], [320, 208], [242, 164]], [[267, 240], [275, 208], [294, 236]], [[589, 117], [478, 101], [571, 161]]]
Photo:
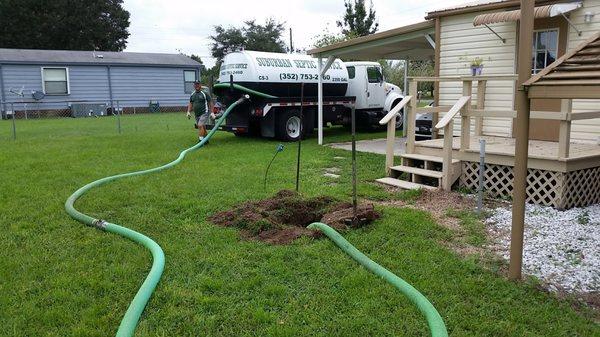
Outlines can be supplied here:
[[[366, 225], [379, 218], [372, 204], [359, 205], [358, 218]], [[213, 214], [209, 221], [242, 230], [242, 237], [271, 244], [288, 244], [307, 236], [318, 237], [318, 231], [307, 229], [313, 222], [324, 222], [337, 230], [350, 226], [345, 219], [353, 215], [352, 204], [322, 196], [303, 198], [294, 191], [282, 190], [269, 199], [246, 202], [233, 209]]]

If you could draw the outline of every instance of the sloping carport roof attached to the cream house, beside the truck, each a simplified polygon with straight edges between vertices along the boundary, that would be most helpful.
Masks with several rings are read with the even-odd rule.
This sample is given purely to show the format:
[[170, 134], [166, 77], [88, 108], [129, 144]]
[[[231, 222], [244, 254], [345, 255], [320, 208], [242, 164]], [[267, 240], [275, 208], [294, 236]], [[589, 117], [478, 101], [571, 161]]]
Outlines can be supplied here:
[[426, 36], [430, 36], [434, 32], [434, 21], [423, 21], [311, 49], [307, 53], [320, 57], [334, 55], [341, 58], [360, 60], [430, 59], [433, 58], [435, 52]]

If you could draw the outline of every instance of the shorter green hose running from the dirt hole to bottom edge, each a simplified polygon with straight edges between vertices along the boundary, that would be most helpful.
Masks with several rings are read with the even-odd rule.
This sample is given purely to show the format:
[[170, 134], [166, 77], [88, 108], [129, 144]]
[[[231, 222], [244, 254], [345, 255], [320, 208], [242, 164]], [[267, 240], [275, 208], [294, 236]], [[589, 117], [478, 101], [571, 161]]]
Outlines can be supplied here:
[[327, 235], [331, 241], [333, 241], [341, 250], [343, 250], [346, 254], [350, 255], [356, 262], [361, 264], [363, 267], [367, 268], [377, 276], [383, 278], [388, 283], [396, 287], [396, 289], [400, 290], [402, 294], [408, 297], [416, 306], [419, 308], [421, 313], [425, 315], [427, 319], [427, 324], [429, 325], [429, 329], [431, 330], [432, 337], [448, 337], [448, 332], [446, 331], [446, 325], [444, 325], [444, 320], [437, 312], [435, 307], [427, 300], [423, 294], [421, 294], [417, 289], [411, 286], [409, 283], [394, 275], [389, 270], [380, 266], [373, 260], [369, 259], [365, 254], [363, 254], [360, 250], [356, 249], [350, 242], [344, 239], [340, 233], [336, 232], [335, 229], [327, 226], [324, 223], [315, 222], [308, 226], [309, 229], [317, 229], [323, 232], [323, 234]]

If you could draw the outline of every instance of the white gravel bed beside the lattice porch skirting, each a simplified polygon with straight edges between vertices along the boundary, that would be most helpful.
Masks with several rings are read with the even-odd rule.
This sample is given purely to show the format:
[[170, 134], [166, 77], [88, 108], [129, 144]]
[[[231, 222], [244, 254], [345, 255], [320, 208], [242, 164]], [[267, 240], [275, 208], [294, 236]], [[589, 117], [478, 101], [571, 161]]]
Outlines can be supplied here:
[[[508, 260], [511, 209], [491, 213], [486, 220], [491, 248]], [[539, 278], [551, 291], [600, 291], [600, 205], [558, 211], [528, 204], [523, 272]]]

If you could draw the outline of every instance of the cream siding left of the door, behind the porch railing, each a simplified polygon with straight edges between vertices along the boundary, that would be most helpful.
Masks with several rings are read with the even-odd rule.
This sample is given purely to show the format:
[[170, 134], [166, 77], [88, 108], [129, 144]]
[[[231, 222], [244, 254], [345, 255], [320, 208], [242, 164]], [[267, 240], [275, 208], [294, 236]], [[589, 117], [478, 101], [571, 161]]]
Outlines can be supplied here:
[[[484, 74], [514, 74], [517, 25], [514, 22], [490, 25], [506, 39], [500, 39], [485, 27], [473, 27], [473, 19], [481, 13], [469, 13], [441, 18], [440, 76], [465, 76], [471, 74], [470, 60], [481, 57]], [[477, 84], [473, 84], [473, 104], [477, 100]], [[490, 81], [485, 95], [486, 108], [510, 110], [513, 108], [514, 83]], [[440, 84], [440, 105], [453, 105], [462, 96], [462, 83]], [[511, 135], [512, 121], [508, 118], [485, 118], [483, 132], [488, 135]], [[460, 132], [460, 121], [455, 120], [455, 134]]]

